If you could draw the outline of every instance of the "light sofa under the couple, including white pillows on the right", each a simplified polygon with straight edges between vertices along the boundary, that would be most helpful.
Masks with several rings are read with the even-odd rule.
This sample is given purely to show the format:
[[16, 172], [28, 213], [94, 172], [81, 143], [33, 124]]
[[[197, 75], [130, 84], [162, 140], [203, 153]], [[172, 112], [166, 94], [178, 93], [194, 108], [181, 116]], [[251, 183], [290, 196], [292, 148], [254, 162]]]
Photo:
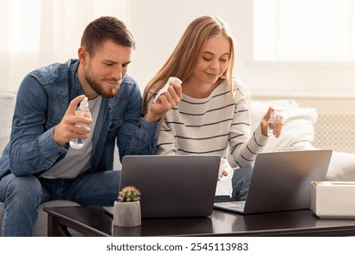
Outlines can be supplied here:
[[[0, 93], [0, 155], [9, 141], [11, 122], [15, 107], [15, 94]], [[283, 117], [284, 127], [280, 138], [270, 138], [264, 152], [316, 149], [314, 144], [317, 130], [315, 108], [299, 107], [295, 100], [276, 100], [269, 102], [251, 101], [251, 129], [259, 125], [261, 117], [269, 106], [273, 106]], [[119, 168], [116, 160], [115, 168]], [[355, 180], [355, 154], [334, 151], [330, 159], [328, 180]], [[38, 208], [38, 220], [35, 224], [35, 236], [46, 236], [47, 215], [43, 211], [46, 206], [77, 206], [73, 201], [48, 201]], [[0, 227], [4, 217], [4, 203], [0, 202]], [[1, 234], [1, 233], [0, 233]]]

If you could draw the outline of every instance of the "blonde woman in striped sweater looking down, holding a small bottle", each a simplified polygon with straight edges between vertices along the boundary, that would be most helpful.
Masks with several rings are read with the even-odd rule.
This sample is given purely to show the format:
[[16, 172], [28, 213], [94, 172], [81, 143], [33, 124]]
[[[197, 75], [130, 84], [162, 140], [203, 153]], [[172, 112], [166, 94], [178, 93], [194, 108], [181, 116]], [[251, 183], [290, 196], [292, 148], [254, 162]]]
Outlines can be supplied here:
[[[269, 107], [259, 127], [250, 134], [249, 98], [246, 88], [233, 76], [234, 57], [227, 24], [217, 16], [198, 17], [147, 84], [143, 111], [147, 112], [169, 76], [179, 78], [182, 99], [161, 121], [157, 154], [217, 154], [229, 158], [237, 165], [232, 199], [241, 200], [248, 193], [253, 162], [268, 142], [268, 120], [274, 109]], [[169, 91], [176, 87], [175, 83], [170, 85]], [[276, 138], [281, 128], [282, 117], [278, 116], [273, 129]], [[226, 171], [223, 174], [227, 176]]]

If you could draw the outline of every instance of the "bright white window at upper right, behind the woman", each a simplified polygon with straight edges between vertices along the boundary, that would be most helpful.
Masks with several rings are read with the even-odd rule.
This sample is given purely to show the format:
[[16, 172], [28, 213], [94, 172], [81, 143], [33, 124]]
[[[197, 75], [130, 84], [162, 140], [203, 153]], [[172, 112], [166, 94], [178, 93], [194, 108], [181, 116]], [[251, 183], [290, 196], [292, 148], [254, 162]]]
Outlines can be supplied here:
[[257, 61], [355, 61], [355, 0], [254, 0]]

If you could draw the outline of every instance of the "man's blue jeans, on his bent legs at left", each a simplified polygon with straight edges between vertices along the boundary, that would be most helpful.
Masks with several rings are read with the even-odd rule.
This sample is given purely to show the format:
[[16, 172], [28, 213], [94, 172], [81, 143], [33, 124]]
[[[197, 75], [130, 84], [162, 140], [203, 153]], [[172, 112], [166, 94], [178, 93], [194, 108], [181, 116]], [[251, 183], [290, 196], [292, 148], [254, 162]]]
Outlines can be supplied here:
[[5, 202], [2, 235], [33, 236], [37, 207], [66, 199], [83, 206], [112, 206], [117, 199], [121, 171], [87, 173], [76, 179], [37, 179], [8, 174], [0, 180], [0, 201]]

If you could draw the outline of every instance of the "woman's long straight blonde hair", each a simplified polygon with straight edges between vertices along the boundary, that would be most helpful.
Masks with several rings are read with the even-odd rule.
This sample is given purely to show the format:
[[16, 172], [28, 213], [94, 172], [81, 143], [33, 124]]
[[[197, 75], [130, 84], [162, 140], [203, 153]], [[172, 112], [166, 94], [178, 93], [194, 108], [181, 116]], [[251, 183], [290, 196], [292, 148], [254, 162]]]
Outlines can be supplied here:
[[228, 67], [222, 76], [227, 78], [230, 90], [232, 91], [235, 53], [234, 39], [229, 27], [217, 16], [200, 16], [188, 25], [173, 53], [167, 58], [167, 62], [157, 72], [157, 75], [148, 82], [143, 95], [144, 114], [147, 113], [147, 105], [151, 97], [154, 97], [154, 94], [164, 86], [168, 77], [176, 76], [183, 82], [187, 80], [196, 65], [202, 46], [204, 46], [208, 39], [220, 36], [226, 36], [230, 41]]

